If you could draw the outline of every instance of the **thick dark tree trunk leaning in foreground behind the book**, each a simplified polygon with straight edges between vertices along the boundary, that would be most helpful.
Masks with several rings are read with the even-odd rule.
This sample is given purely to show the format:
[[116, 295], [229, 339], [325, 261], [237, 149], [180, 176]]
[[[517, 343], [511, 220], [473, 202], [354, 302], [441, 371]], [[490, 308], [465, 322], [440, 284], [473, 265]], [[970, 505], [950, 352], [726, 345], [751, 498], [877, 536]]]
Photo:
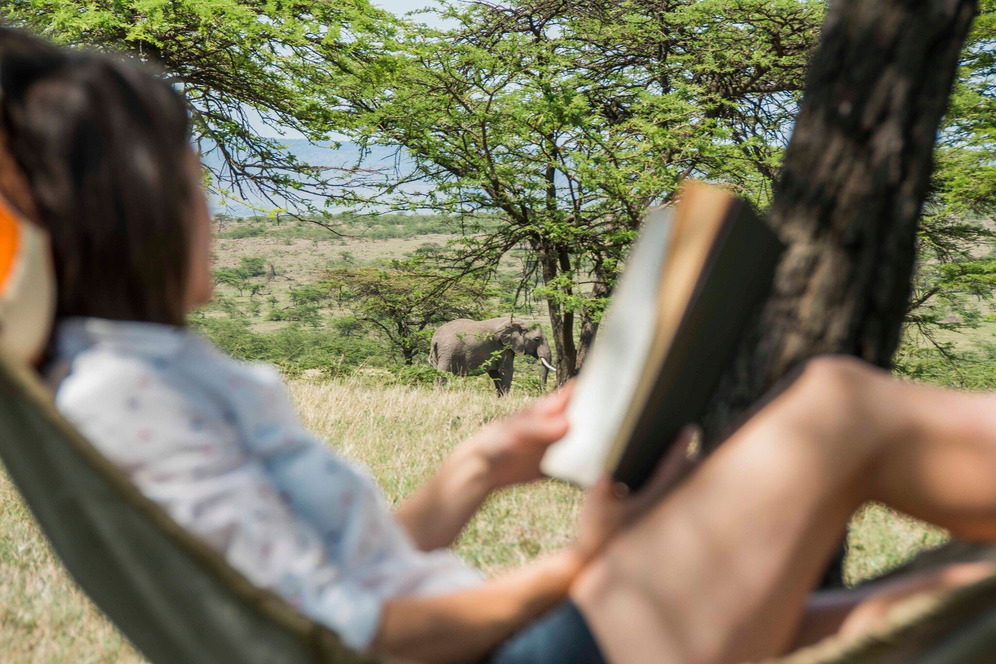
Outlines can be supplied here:
[[[814, 355], [889, 366], [934, 138], [974, 10], [973, 0], [831, 6], [769, 215], [787, 250], [713, 396], [706, 450]], [[843, 557], [824, 585], [841, 584]]]

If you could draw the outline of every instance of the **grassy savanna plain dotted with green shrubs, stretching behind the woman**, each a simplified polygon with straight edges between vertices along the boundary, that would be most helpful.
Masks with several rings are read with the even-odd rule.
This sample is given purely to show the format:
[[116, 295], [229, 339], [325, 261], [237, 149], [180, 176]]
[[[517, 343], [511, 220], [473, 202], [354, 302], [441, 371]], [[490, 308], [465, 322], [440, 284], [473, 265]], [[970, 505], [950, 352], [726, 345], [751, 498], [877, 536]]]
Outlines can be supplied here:
[[[431, 222], [388, 221], [340, 237], [307, 225], [222, 220], [217, 297], [191, 324], [237, 356], [281, 366], [311, 430], [366, 465], [397, 503], [460, 440], [525, 406], [542, 388], [531, 358], [517, 360], [513, 390], [500, 399], [484, 375], [437, 384], [424, 355], [405, 365], [376, 326], [361, 320], [330, 270], [387, 269], [392, 259], [431, 253], [450, 239]], [[507, 277], [521, 269], [517, 260], [513, 252], [504, 263]], [[492, 313], [515, 306], [517, 316], [545, 318], [541, 305], [510, 305], [500, 294], [491, 306]], [[580, 500], [577, 490], [553, 481], [502, 492], [460, 536], [457, 551], [492, 574], [554, 551], [571, 541]], [[869, 505], [848, 537], [846, 577], [855, 583], [946, 536]], [[0, 476], [0, 660], [143, 661], [63, 569], [6, 476]]]

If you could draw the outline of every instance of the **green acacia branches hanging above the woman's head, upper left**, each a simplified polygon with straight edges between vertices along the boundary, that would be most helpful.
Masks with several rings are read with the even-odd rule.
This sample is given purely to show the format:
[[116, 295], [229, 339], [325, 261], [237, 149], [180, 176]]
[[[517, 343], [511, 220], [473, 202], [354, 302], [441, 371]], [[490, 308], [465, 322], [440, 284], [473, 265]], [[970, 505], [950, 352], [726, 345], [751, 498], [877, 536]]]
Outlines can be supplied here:
[[0, 0], [0, 19], [154, 63], [190, 104], [216, 193], [311, 213], [315, 197], [353, 199], [340, 169], [302, 162], [260, 129], [328, 138], [323, 91], [354, 66], [370, 71], [393, 29], [368, 0]]

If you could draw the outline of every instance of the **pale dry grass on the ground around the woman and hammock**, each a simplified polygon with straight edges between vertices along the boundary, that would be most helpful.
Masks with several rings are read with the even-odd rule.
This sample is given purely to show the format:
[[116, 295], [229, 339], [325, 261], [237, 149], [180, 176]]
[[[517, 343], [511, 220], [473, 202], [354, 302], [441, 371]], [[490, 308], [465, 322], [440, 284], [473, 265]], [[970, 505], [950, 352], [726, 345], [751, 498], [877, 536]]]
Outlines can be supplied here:
[[[291, 385], [307, 424], [367, 465], [394, 502], [462, 438], [529, 399], [513, 393], [499, 400], [478, 387], [383, 386], [362, 378]], [[477, 516], [458, 550], [490, 573], [555, 550], [572, 537], [579, 500], [579, 492], [554, 482], [505, 492]], [[142, 661], [69, 579], [2, 474], [0, 525], [0, 661]], [[874, 575], [943, 537], [884, 508], [867, 508], [852, 528], [849, 578]]]

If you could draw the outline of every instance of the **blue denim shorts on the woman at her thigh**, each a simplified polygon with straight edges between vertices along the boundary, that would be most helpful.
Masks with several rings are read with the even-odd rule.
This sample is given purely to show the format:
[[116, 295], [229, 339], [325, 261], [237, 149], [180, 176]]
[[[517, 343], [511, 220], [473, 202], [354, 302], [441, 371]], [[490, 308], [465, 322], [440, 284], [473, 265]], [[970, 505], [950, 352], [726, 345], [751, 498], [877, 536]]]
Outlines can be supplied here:
[[585, 617], [567, 601], [499, 646], [489, 664], [606, 664]]

